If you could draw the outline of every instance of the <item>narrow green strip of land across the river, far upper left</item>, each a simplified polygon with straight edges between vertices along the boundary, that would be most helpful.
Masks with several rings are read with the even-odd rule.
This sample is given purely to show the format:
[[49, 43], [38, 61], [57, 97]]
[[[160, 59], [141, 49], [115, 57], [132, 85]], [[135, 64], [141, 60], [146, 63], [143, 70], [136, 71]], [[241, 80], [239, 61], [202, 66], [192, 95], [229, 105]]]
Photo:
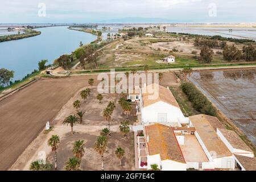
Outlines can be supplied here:
[[30, 38], [32, 36], [37, 36], [37, 35], [41, 34], [40, 31], [35, 31], [35, 30], [30, 30], [30, 29], [26, 29], [26, 30], [23, 30], [23, 31], [25, 32], [25, 34], [14, 34], [14, 35], [0, 36], [0, 43], [11, 41], [11, 40], [19, 40], [19, 39]]

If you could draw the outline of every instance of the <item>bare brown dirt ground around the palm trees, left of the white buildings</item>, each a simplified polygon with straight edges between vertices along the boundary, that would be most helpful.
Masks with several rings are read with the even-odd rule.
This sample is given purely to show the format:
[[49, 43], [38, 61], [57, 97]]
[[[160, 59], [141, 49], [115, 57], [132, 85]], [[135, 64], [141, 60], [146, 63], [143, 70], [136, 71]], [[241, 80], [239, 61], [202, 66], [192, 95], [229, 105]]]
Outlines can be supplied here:
[[[84, 88], [82, 88], [84, 89]], [[81, 90], [81, 89], [80, 89]], [[73, 96], [67, 104], [63, 106], [60, 112], [55, 118], [55, 126], [53, 130], [48, 134], [40, 133], [40, 135], [26, 148], [23, 154], [16, 160], [10, 170], [28, 170], [32, 161], [38, 160], [38, 154], [40, 151], [46, 152], [47, 159], [53, 163], [53, 154], [51, 148], [47, 145], [47, 140], [51, 135], [59, 135], [60, 145], [57, 150], [57, 165], [58, 170], [63, 170], [65, 162], [69, 157], [72, 157], [72, 143], [76, 140], [85, 141], [85, 155], [82, 159], [82, 170], [100, 170], [101, 159], [100, 156], [94, 151], [93, 146], [96, 138], [100, 135], [100, 131], [105, 127], [108, 127], [108, 122], [102, 117], [102, 111], [108, 105], [109, 101], [114, 101], [113, 94], [103, 94], [104, 99], [101, 103], [97, 100], [98, 94], [96, 88], [92, 90], [90, 96], [86, 99], [86, 102], [81, 105], [79, 110], [85, 111], [82, 124], [74, 126], [75, 135], [71, 135], [71, 127], [63, 125], [63, 120], [68, 115], [75, 114], [77, 111], [73, 108], [73, 101], [79, 99], [80, 90]], [[123, 134], [119, 133], [119, 124], [126, 119], [125, 115], [122, 115], [122, 109], [119, 104], [116, 104], [116, 108], [113, 113], [114, 120], [111, 123], [112, 136], [108, 142], [108, 153], [105, 154], [105, 169], [106, 170], [134, 170], [134, 139], [133, 133], [125, 139]], [[130, 116], [128, 119], [130, 124], [133, 125], [135, 121], [134, 116]], [[122, 168], [118, 166], [119, 160], [115, 157], [114, 151], [117, 147], [122, 147], [126, 154], [122, 160]]]

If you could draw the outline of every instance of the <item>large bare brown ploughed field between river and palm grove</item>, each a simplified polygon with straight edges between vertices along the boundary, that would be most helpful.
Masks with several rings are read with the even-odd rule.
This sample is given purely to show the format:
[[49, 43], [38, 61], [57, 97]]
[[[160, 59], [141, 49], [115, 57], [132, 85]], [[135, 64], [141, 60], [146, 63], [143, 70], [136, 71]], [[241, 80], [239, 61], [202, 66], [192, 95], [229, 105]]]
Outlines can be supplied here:
[[0, 101], [0, 170], [7, 170], [47, 121], [96, 76], [43, 79]]

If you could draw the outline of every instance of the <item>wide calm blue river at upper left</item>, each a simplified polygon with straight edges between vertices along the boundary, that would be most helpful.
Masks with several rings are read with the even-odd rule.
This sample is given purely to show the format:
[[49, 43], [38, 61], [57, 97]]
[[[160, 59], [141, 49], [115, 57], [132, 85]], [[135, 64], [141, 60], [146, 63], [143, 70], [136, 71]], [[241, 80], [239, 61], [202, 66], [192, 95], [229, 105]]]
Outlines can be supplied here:
[[38, 62], [47, 59], [48, 64], [65, 54], [71, 53], [83, 44], [97, 39], [95, 35], [69, 30], [67, 27], [36, 29], [42, 34], [31, 38], [0, 43], [0, 68], [13, 70], [14, 80], [22, 79], [34, 69]]

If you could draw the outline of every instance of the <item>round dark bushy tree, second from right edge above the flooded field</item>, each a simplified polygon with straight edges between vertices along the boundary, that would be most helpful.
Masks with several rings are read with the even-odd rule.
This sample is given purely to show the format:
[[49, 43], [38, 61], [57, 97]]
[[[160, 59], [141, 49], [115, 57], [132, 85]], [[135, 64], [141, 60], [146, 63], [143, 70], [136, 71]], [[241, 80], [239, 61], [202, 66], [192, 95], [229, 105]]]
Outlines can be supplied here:
[[240, 60], [242, 58], [242, 51], [240, 51], [240, 49], [237, 49], [234, 45], [226, 45], [222, 53], [224, 59], [229, 62], [232, 60]]

